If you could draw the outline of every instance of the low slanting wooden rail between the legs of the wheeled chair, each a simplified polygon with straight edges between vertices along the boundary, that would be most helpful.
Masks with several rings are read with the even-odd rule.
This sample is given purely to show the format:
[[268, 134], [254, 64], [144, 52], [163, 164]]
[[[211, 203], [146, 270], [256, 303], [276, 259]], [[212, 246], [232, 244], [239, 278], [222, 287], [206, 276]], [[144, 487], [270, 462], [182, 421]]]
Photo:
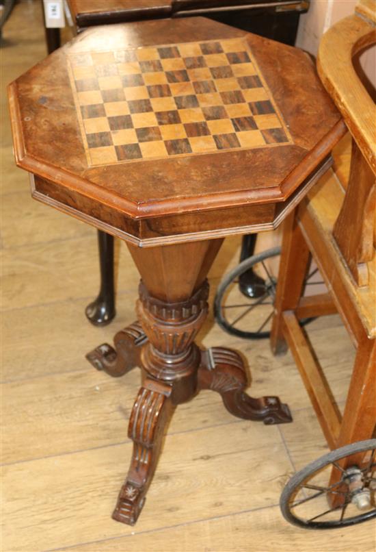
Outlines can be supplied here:
[[330, 387], [295, 314], [291, 311], [285, 311], [283, 322], [284, 336], [288, 342], [288, 347], [293, 353], [327, 442], [334, 449], [340, 431], [341, 416], [332, 397]]

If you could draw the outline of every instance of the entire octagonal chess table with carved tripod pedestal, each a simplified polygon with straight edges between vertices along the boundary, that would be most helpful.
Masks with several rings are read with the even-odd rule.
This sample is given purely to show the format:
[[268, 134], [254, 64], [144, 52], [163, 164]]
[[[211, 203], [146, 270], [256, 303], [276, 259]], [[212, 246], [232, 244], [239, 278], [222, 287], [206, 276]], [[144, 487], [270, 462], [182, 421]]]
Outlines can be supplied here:
[[291, 421], [278, 397], [245, 394], [237, 353], [194, 343], [206, 274], [225, 236], [293, 210], [345, 125], [306, 53], [204, 18], [93, 27], [9, 93], [32, 196], [125, 240], [142, 277], [137, 322], [88, 355], [112, 376], [142, 368], [113, 514], [133, 524], [174, 407], [199, 390], [235, 416]]

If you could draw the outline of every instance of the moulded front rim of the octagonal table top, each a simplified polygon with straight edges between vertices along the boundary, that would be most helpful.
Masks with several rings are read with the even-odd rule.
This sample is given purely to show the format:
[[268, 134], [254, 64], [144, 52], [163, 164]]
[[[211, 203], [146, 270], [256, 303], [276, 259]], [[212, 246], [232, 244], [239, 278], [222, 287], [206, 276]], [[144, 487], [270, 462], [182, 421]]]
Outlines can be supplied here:
[[[269, 188], [256, 188], [253, 190], [238, 190], [231, 192], [217, 192], [212, 194], [202, 195], [198, 197], [174, 197], [168, 199], [159, 199], [148, 201], [148, 203], [136, 203], [126, 199], [113, 192], [103, 188], [92, 181], [88, 181], [79, 175], [74, 175], [71, 172], [64, 171], [63, 168], [58, 168], [44, 160], [38, 159], [29, 155], [24, 148], [23, 129], [21, 125], [21, 114], [17, 100], [17, 84], [16, 81], [8, 87], [12, 134], [14, 141], [14, 155], [17, 166], [25, 169], [29, 173], [40, 176], [45, 181], [51, 183], [51, 195], [56, 191], [53, 190], [52, 184], [57, 184], [61, 189], [60, 196], [76, 194], [77, 197], [83, 199], [91, 199], [98, 204], [103, 205], [103, 208], [116, 210], [120, 214], [129, 216], [135, 220], [142, 218], [150, 218], [155, 216], [167, 216], [173, 214], [185, 214], [194, 212], [209, 212], [224, 208], [246, 207], [247, 205], [258, 205], [265, 203], [284, 202], [292, 195], [301, 183], [321, 164], [338, 140], [347, 131], [345, 123], [342, 120], [338, 121], [334, 127], [317, 143], [302, 160], [299, 165], [282, 181], [280, 186], [271, 186]], [[48, 202], [49, 191], [44, 189], [46, 194], [46, 202]], [[40, 199], [40, 198], [39, 198]], [[62, 201], [62, 197], [59, 201]]]

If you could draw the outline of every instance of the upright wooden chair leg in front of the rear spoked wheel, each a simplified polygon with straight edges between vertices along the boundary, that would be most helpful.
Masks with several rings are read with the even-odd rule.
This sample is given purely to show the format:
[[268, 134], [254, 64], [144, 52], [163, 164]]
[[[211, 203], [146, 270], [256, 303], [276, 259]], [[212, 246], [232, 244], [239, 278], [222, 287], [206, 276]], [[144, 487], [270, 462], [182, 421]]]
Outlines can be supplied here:
[[274, 305], [270, 344], [274, 355], [286, 352], [287, 344], [283, 335], [282, 313], [295, 310], [303, 292], [304, 278], [308, 270], [310, 251], [297, 223], [297, 211], [284, 221], [282, 253], [278, 284]]

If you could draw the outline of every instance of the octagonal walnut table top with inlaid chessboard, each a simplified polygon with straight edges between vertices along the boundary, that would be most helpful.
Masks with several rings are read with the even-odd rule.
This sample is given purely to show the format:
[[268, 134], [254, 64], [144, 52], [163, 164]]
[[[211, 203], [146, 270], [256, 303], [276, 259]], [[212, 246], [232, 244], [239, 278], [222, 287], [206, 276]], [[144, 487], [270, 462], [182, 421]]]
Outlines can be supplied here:
[[132, 218], [286, 201], [345, 129], [306, 53], [205, 18], [88, 29], [10, 106], [19, 166]]

